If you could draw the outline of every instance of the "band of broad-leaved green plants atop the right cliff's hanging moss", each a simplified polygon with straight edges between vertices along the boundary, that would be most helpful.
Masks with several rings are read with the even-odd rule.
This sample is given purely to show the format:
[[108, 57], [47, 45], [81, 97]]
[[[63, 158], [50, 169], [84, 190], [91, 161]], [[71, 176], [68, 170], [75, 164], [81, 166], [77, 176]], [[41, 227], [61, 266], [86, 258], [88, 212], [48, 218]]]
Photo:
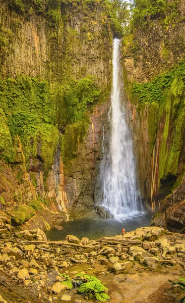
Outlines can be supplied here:
[[175, 97], [185, 91], [185, 61], [181, 61], [169, 73], [154, 78], [153, 81], [133, 84], [133, 91], [139, 103], [160, 103], [163, 96], [170, 90]]

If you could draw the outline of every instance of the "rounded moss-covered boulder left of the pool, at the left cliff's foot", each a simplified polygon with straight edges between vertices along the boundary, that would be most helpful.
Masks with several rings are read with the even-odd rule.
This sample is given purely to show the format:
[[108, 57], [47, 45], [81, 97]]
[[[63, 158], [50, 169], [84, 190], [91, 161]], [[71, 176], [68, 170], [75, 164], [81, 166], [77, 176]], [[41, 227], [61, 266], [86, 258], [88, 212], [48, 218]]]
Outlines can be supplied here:
[[19, 205], [17, 210], [13, 212], [13, 219], [16, 223], [23, 224], [34, 215], [35, 211], [32, 207]]

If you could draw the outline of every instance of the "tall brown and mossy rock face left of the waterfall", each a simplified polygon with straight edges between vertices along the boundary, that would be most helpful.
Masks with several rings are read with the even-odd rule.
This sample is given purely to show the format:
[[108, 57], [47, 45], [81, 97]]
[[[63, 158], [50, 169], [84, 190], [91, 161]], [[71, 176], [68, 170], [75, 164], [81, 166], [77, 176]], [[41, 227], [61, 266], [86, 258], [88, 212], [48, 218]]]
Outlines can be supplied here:
[[[69, 214], [74, 218], [96, 215], [94, 168], [109, 102], [113, 35], [109, 17], [102, 19], [105, 4], [91, 7], [91, 4], [82, 3], [74, 7], [63, 3], [54, 8], [49, 5], [41, 5], [39, 9], [31, 7], [28, 12], [24, 4], [24, 8], [20, 8], [18, 4], [2, 1], [0, 9], [3, 41], [11, 45], [8, 47], [5, 43], [1, 48], [0, 75], [5, 81], [5, 90], [9, 85], [8, 77], [12, 83], [22, 83], [17, 85], [19, 92], [10, 93], [16, 98], [15, 107], [10, 111], [7, 110], [9, 96], [1, 99], [4, 113], [0, 117], [3, 125], [0, 129], [3, 138], [0, 145], [0, 211], [13, 216], [18, 224], [26, 222], [28, 229], [34, 224], [47, 229], [68, 219]], [[57, 18], [48, 17], [48, 12]], [[20, 80], [19, 74], [24, 75], [24, 79]], [[87, 113], [77, 124], [74, 117], [74, 121], [65, 120], [66, 113], [69, 115], [70, 112], [64, 100], [65, 85], [89, 75], [94, 77], [105, 104], [95, 106], [93, 113]], [[26, 109], [33, 105], [27, 114], [18, 97], [24, 89], [29, 100]], [[30, 99], [32, 97], [34, 101]], [[36, 121], [40, 104], [45, 110], [41, 109], [40, 116], [43, 117], [37, 127], [32, 122]], [[24, 123], [21, 123], [12, 133], [11, 127], [20, 121], [23, 112], [27, 115], [24, 122], [28, 116], [31, 119], [31, 128], [25, 126], [28, 131], [22, 132]], [[14, 117], [11, 127], [8, 126], [10, 116]], [[72, 157], [69, 158], [70, 153]], [[26, 206], [38, 196], [45, 207], [34, 209], [36, 213], [29, 216], [20, 214], [20, 209], [17, 212], [17, 206]]]

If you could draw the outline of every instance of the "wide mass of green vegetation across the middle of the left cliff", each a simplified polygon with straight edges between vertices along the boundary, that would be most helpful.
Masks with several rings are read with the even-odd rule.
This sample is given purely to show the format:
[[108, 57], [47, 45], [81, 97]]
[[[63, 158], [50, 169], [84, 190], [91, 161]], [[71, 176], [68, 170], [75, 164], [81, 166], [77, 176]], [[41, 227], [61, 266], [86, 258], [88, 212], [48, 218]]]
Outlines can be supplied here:
[[[59, 141], [64, 163], [75, 157], [89, 125], [87, 110], [99, 99], [98, 86], [92, 76], [51, 87], [47, 81], [17, 76], [1, 79], [0, 85], [0, 156], [18, 161], [18, 135], [27, 166], [30, 157], [33, 164], [39, 159], [45, 180]], [[30, 176], [36, 187], [34, 173]]]

